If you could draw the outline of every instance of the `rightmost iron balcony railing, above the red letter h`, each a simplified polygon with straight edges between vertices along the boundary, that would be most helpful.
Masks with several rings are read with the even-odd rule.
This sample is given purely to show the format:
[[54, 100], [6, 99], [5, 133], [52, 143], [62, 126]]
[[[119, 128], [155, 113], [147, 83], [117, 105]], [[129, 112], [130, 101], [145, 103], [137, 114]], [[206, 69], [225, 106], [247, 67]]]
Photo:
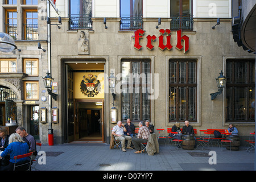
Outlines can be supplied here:
[[193, 16], [192, 15], [171, 15], [171, 29], [172, 30], [193, 30]]

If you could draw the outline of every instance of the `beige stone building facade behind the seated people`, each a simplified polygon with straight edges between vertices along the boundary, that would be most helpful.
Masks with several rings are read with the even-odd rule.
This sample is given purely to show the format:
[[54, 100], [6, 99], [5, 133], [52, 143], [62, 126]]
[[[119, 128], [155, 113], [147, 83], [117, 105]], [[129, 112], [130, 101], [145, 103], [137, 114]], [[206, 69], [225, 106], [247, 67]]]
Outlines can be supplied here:
[[[176, 121], [183, 126], [185, 120], [197, 130], [228, 129], [234, 123], [245, 138], [254, 131], [255, 55], [234, 42], [231, 0], [52, 1], [57, 12], [51, 6], [49, 50], [47, 2], [30, 5], [38, 9], [38, 39], [24, 40], [25, 29], [19, 25], [15, 43], [22, 51], [0, 54], [1, 60], [16, 61], [14, 73], [0, 73], [0, 85], [18, 97], [18, 125], [28, 127], [29, 110], [37, 106], [43, 143], [48, 142], [49, 128], [54, 143], [109, 143], [116, 122], [127, 118], [137, 127], [139, 121], [149, 120], [155, 129], [165, 129], [166, 136], [167, 128]], [[1, 31], [9, 30], [10, 9], [26, 13], [27, 6], [2, 3], [6, 18]], [[26, 19], [17, 17], [20, 24]], [[46, 52], [38, 49], [38, 42]], [[25, 72], [24, 63], [32, 59], [38, 60], [35, 76]], [[56, 100], [44, 88], [47, 71], [54, 78]], [[221, 71], [226, 86], [211, 100]], [[110, 84], [111, 76], [115, 85]]]

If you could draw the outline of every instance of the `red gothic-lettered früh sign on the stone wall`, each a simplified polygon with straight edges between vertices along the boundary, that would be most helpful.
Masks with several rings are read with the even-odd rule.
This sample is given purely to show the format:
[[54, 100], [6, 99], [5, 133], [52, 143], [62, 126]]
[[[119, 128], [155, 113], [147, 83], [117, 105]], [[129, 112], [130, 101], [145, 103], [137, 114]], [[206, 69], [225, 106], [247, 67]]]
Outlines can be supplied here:
[[[134, 32], [134, 36], [133, 36], [133, 38], [134, 38], [134, 48], [135, 49], [141, 49], [142, 48], [142, 46], [141, 46], [141, 44], [139, 44], [139, 39], [141, 39], [142, 37], [143, 37], [143, 34], [144, 34], [144, 30], [142, 30], [142, 29], [138, 29], [138, 30], [136, 30], [135, 32]], [[163, 30], [163, 29], [160, 29], [159, 30], [159, 32], [160, 32], [160, 36], [158, 37], [158, 39], [159, 39], [159, 45], [158, 45], [158, 47], [159, 47], [159, 49], [161, 49], [162, 51], [166, 48], [166, 49], [168, 49], [168, 51], [170, 51], [171, 50], [171, 48], [172, 48], [172, 45], [171, 45], [171, 30], [169, 30], [169, 29], [166, 29], [166, 30]], [[164, 43], [163, 43], [163, 39], [164, 39], [164, 33], [166, 33], [167, 34], [167, 36], [166, 36], [166, 44], [164, 45]], [[146, 36], [146, 38], [147, 38], [147, 48], [148, 49], [152, 49], [152, 48], [154, 48], [154, 46], [152, 45], [152, 41], [154, 41], [155, 39], [156, 39], [156, 36], [155, 35], [148, 35], [148, 36]], [[185, 45], [184, 45], [184, 51], [185, 52], [187, 52], [188, 51], [188, 49], [189, 49], [189, 37], [187, 36], [187, 35], [183, 35], [183, 36], [181, 36], [181, 30], [178, 30], [177, 31], [177, 44], [176, 44], [176, 48], [177, 49], [179, 49], [179, 50], [181, 50], [182, 48], [183, 48], [183, 46], [181, 45], [181, 40], [183, 40], [185, 43]]]

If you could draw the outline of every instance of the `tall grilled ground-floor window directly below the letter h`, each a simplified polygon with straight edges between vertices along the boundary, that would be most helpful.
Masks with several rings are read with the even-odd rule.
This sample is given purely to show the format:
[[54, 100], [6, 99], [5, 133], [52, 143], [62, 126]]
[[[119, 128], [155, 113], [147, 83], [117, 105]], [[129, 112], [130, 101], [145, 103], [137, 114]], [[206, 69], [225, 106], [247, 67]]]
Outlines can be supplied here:
[[169, 122], [196, 122], [196, 61], [169, 62]]

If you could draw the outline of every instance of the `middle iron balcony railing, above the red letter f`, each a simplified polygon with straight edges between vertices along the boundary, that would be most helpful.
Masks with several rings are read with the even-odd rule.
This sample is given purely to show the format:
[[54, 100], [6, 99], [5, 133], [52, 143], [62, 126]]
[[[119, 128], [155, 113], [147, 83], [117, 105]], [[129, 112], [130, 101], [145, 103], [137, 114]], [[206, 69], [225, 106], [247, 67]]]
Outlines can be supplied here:
[[143, 29], [143, 15], [121, 15], [120, 30]]

